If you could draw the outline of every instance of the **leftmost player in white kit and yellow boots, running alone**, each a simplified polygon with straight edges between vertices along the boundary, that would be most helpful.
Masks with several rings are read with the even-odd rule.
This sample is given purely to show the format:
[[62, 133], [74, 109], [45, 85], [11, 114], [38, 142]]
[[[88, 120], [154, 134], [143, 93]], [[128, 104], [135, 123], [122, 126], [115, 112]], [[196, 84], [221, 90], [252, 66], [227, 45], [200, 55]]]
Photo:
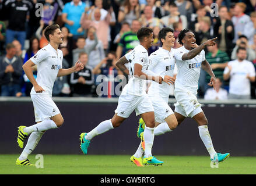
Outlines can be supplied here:
[[[23, 148], [24, 140], [30, 135], [22, 154], [16, 160], [16, 164], [22, 166], [34, 166], [27, 157], [36, 148], [42, 135], [51, 128], [60, 127], [64, 122], [61, 112], [51, 99], [56, 77], [66, 76], [83, 69], [83, 63], [80, 62], [76, 62], [75, 66], [69, 69], [62, 69], [63, 55], [58, 47], [63, 42], [63, 34], [58, 24], [47, 26], [44, 35], [49, 44], [40, 49], [23, 65], [24, 72], [33, 84], [30, 95], [34, 105], [36, 124], [30, 127], [18, 127], [17, 142], [20, 148]], [[32, 71], [34, 65], [37, 65], [36, 79]]]

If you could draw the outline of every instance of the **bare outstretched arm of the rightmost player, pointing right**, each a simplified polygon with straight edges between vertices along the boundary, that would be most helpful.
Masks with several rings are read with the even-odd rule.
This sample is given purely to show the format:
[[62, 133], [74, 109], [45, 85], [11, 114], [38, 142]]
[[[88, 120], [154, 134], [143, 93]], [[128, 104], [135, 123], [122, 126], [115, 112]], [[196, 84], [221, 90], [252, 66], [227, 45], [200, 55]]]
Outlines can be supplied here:
[[200, 53], [202, 51], [202, 49], [204, 49], [205, 47], [209, 47], [209, 46], [215, 45], [215, 40], [217, 40], [217, 38], [213, 38], [211, 40], [207, 40], [207, 41], [203, 42], [197, 48], [192, 49], [188, 53], [184, 53], [184, 55], [182, 56], [181, 59], [182, 60], [189, 60], [189, 59], [195, 58], [195, 56], [197, 56], [198, 53]]

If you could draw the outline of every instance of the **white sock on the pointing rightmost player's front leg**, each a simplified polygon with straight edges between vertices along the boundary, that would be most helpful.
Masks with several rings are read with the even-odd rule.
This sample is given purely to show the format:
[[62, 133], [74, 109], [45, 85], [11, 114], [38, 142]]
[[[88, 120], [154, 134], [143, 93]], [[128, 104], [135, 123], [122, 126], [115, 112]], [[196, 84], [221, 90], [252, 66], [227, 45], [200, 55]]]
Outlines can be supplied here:
[[209, 155], [211, 156], [211, 158], [213, 158], [216, 151], [213, 148], [212, 139], [211, 139], [211, 135], [208, 130], [208, 126], [199, 126], [198, 129], [199, 129], [199, 135], [200, 135], [201, 140], [204, 142], [205, 147], [206, 147], [207, 151], [209, 152]]

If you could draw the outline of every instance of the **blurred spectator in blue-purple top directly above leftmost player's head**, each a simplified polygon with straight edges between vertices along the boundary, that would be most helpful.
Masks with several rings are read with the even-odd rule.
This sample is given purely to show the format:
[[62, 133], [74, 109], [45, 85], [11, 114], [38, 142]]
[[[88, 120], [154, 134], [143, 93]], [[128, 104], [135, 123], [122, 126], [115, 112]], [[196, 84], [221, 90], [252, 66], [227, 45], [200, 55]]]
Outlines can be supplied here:
[[44, 3], [44, 17], [42, 20], [46, 26], [54, 23], [54, 17], [58, 10], [58, 3], [54, 2], [54, 0], [45, 0]]

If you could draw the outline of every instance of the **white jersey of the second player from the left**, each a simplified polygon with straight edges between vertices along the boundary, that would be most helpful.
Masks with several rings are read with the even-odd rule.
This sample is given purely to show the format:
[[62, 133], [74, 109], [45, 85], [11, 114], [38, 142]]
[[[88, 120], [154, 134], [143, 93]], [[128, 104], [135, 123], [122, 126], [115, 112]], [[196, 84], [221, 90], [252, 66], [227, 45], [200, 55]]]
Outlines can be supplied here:
[[125, 85], [122, 92], [127, 92], [129, 94], [138, 96], [146, 94], [146, 80], [134, 77], [134, 65], [135, 63], [138, 63], [142, 66], [142, 72], [146, 73], [146, 70], [148, 70], [149, 66], [148, 51], [142, 45], [138, 45], [132, 51], [125, 54], [125, 58], [131, 63], [131, 65], [129, 65], [130, 78], [128, 84]]

